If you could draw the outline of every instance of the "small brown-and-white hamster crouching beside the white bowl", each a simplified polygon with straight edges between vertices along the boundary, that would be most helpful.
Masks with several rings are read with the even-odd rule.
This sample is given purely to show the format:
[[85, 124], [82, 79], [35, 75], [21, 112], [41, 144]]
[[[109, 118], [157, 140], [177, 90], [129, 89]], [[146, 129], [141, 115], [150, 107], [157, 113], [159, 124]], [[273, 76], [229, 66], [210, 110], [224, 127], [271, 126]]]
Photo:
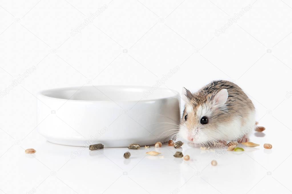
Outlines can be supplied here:
[[248, 142], [256, 127], [253, 103], [230, 81], [212, 81], [195, 93], [183, 88], [182, 99], [186, 104], [178, 136], [192, 143]]

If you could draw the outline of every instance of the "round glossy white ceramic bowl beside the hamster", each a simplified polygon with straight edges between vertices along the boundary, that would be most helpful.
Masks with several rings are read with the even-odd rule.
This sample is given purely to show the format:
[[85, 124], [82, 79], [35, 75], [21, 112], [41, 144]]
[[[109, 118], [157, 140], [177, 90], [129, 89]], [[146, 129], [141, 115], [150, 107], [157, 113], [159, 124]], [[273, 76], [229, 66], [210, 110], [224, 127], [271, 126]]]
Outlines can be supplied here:
[[62, 145], [153, 145], [168, 140], [180, 120], [180, 95], [164, 88], [83, 86], [37, 97], [39, 133]]

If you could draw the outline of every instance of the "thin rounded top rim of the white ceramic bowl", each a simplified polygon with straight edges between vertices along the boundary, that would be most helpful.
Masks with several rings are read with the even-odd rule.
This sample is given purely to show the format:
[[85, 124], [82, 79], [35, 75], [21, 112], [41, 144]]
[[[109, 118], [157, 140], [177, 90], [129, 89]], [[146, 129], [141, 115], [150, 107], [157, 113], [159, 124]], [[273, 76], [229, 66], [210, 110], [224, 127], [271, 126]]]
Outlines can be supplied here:
[[[84, 85], [83, 85], [84, 86]], [[163, 97], [163, 98], [155, 98], [155, 99], [143, 99], [143, 97], [140, 100], [75, 100], [75, 99], [70, 99], [72, 96], [75, 95], [75, 93], [69, 98], [69, 99], [64, 99], [64, 98], [56, 98], [56, 97], [50, 97], [47, 95], [44, 95], [43, 92], [49, 92], [49, 91], [56, 91], [56, 90], [68, 90], [68, 89], [78, 89], [80, 90], [83, 86], [71, 86], [71, 87], [62, 87], [62, 88], [51, 88], [51, 89], [46, 89], [46, 90], [41, 90], [37, 92], [37, 96], [41, 98], [46, 98], [46, 99], [55, 99], [55, 100], [61, 100], [61, 101], [70, 101], [70, 102], [151, 102], [151, 101], [158, 101], [158, 100], [165, 100], [165, 99], [170, 99], [170, 98], [181, 98], [180, 93], [176, 90], [170, 89], [170, 88], [164, 88], [164, 87], [158, 87], [156, 90], [168, 90], [173, 92], [172, 96], [169, 97]], [[101, 86], [101, 87], [124, 87], [124, 88], [147, 88], [150, 89], [153, 86], [133, 86], [133, 85], [92, 85], [92, 86]], [[77, 91], [78, 91], [77, 90]]]

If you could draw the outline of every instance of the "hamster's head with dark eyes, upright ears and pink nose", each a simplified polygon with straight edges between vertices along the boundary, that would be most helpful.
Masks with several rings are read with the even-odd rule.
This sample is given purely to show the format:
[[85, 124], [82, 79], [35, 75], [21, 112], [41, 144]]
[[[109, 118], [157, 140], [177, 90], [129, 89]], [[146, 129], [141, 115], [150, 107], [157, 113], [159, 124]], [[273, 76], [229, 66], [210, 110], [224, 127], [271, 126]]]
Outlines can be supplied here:
[[203, 145], [224, 139], [220, 127], [226, 118], [228, 92], [219, 90], [215, 94], [192, 93], [183, 88], [182, 99], [185, 109], [180, 122], [178, 135], [183, 139]]

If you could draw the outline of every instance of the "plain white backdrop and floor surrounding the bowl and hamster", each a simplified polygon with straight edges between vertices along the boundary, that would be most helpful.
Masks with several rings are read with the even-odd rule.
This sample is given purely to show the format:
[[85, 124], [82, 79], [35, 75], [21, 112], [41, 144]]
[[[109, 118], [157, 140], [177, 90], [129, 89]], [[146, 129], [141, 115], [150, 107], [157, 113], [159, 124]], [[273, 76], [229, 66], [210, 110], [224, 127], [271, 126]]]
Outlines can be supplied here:
[[[0, 1], [0, 90], [9, 90], [0, 98], [0, 193], [291, 193], [291, 16], [288, 0]], [[215, 169], [208, 166], [215, 152], [187, 147], [189, 163], [174, 160], [168, 148], [161, 148], [161, 160], [144, 158], [142, 150], [125, 163], [124, 148], [94, 157], [86, 149], [71, 159], [78, 147], [48, 143], [35, 130], [39, 90], [152, 86], [176, 66], [161, 87], [196, 91], [224, 79], [243, 88], [267, 128], [265, 136], [252, 137], [260, 148], [227, 153]], [[263, 143], [274, 147], [264, 150]], [[24, 154], [29, 147], [37, 149], [34, 156]]]

